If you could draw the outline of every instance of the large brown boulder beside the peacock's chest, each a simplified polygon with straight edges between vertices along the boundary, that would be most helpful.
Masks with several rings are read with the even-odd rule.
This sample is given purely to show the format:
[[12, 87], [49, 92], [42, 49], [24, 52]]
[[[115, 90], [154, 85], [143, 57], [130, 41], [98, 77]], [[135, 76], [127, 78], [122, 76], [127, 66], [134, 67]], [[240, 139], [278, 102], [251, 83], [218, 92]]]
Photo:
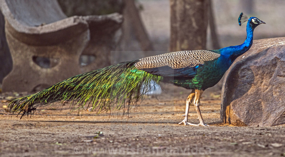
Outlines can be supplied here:
[[221, 119], [235, 126], [285, 123], [285, 37], [253, 41], [225, 74]]

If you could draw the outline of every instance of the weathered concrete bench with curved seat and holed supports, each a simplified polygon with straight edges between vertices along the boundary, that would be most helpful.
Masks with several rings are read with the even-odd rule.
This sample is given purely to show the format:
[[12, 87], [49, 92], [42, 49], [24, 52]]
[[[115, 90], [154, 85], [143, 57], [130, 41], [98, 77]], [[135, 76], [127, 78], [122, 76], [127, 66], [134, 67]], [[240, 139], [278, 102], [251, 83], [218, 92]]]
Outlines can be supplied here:
[[[0, 9], [13, 60], [3, 91], [38, 91], [108, 64], [122, 23], [117, 13], [67, 17], [56, 0], [0, 0]], [[81, 65], [82, 55], [95, 61]]]

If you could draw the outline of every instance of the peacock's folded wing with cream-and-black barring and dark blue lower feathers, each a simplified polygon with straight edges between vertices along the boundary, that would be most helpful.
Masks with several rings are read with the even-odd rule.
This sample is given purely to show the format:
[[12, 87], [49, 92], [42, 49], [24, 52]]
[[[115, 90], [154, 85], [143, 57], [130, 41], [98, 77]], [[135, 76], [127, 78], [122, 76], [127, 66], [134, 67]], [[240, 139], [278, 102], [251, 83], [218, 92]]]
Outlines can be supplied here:
[[221, 55], [213, 51], [178, 51], [157, 56], [144, 57], [135, 67], [150, 74], [160, 76], [195, 76], [197, 69], [205, 61], [214, 60]]

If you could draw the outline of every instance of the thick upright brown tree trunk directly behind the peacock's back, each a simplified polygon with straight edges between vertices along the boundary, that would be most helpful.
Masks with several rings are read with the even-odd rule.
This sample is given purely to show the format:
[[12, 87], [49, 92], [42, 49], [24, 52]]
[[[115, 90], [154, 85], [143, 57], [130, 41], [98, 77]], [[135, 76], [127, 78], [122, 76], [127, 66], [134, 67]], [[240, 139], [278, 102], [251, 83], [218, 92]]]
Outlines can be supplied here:
[[206, 48], [209, 1], [170, 0], [170, 51]]

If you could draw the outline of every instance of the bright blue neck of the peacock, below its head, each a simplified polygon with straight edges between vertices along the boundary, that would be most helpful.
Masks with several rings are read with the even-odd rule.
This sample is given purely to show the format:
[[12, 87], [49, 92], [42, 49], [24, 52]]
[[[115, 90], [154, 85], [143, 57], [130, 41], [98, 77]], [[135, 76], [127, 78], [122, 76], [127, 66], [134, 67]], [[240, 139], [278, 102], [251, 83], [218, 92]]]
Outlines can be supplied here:
[[251, 45], [252, 45], [253, 30], [254, 30], [254, 28], [251, 28], [249, 26], [249, 24], [247, 24], [247, 39], [245, 40], [245, 42], [243, 44], [241, 44], [241, 45], [229, 46], [229, 47], [225, 47], [223, 49], [220, 49], [221, 55], [228, 56], [233, 61], [238, 56], [240, 56], [240, 55], [244, 54], [245, 52], [247, 52], [249, 50], [249, 48], [251, 47]]

